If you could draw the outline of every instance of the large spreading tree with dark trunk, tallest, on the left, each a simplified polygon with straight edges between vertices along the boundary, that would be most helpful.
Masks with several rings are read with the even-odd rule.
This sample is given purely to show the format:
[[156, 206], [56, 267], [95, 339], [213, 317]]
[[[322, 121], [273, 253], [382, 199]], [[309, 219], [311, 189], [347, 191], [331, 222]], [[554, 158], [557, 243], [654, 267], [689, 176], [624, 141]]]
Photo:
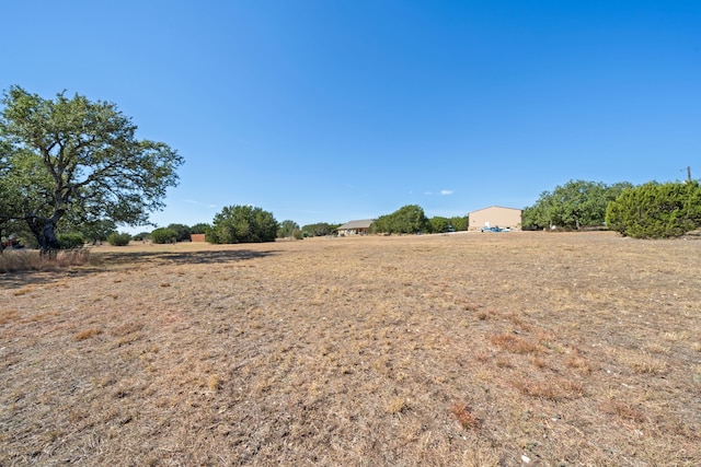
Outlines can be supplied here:
[[0, 185], [14, 208], [0, 205], [0, 217], [25, 221], [43, 253], [59, 246], [65, 218], [72, 225], [146, 223], [177, 183], [183, 159], [162, 142], [137, 140], [137, 127], [114, 104], [65, 93], [44, 100], [20, 86], [2, 104]]

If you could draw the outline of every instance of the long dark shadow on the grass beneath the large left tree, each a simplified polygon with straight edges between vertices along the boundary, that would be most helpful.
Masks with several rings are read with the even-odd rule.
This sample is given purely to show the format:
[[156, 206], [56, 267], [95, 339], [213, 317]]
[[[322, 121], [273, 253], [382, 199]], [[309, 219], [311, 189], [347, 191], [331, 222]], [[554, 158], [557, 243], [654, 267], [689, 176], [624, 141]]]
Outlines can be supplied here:
[[97, 272], [105, 272], [113, 267], [124, 268], [128, 265], [153, 264], [163, 266], [204, 265], [219, 262], [244, 261], [276, 255], [277, 250], [255, 252], [251, 249], [217, 250], [217, 252], [114, 252], [91, 254], [89, 264], [65, 267], [47, 267], [42, 270], [20, 270], [0, 272], [1, 289], [19, 289], [30, 284], [50, 283], [67, 277], [85, 277]]

